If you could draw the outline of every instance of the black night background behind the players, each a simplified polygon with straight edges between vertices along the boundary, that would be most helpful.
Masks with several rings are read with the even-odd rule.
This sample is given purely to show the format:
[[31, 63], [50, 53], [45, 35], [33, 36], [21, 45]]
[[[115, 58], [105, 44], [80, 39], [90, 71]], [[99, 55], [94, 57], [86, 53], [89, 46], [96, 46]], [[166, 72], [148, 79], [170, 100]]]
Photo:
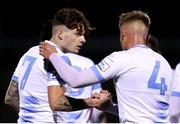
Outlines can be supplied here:
[[120, 50], [119, 15], [135, 9], [146, 11], [152, 21], [150, 33], [174, 68], [180, 62], [178, 5], [173, 0], [0, 0], [0, 122], [16, 122], [16, 112], [3, 103], [11, 75], [20, 57], [39, 43], [42, 25], [59, 9], [76, 8], [96, 27], [80, 52], [95, 63]]

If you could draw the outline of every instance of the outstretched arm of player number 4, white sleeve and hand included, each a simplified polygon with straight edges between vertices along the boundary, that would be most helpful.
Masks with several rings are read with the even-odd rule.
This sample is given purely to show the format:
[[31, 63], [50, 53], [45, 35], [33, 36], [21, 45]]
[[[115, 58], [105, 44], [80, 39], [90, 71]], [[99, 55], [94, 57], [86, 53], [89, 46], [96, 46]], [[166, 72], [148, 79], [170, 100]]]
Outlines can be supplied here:
[[[48, 43], [41, 42], [39, 48], [40, 54], [51, 61], [61, 78], [72, 87], [91, 85], [99, 81], [110, 79], [116, 73], [115, 71], [117, 71], [117, 67], [114, 64], [115, 62], [112, 62], [111, 59], [108, 59], [108, 57], [106, 57], [105, 60], [107, 60], [110, 64], [113, 64], [113, 67], [111, 66], [111, 68], [105, 72], [101, 71], [104, 73], [103, 76], [102, 73], [100, 73], [101, 69], [98, 65], [94, 65], [82, 71], [77, 71], [63, 61], [61, 55], [56, 52], [56, 49], [53, 46]], [[106, 64], [106, 62], [102, 61], [101, 65], [104, 64]]]

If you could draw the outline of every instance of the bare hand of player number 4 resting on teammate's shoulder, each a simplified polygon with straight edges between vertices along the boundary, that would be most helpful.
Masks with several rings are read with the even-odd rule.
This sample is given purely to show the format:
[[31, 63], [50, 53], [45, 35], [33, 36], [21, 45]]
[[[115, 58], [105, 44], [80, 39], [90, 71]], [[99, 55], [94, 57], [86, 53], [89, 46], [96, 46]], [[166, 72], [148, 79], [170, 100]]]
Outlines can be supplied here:
[[46, 59], [49, 59], [49, 57], [53, 54], [56, 53], [56, 48], [49, 43], [46, 42], [40, 42], [39, 45], [39, 54], [45, 57]]

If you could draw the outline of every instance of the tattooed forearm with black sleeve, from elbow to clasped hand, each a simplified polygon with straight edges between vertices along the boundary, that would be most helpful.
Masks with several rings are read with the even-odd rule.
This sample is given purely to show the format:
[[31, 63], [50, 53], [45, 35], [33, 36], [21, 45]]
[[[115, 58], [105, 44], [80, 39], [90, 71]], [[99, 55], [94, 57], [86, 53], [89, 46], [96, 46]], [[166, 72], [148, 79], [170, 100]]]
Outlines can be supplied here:
[[98, 107], [107, 102], [110, 97], [108, 94], [103, 94], [102, 98], [86, 98], [86, 99], [75, 99], [72, 97], [59, 95], [54, 97], [51, 95], [49, 99], [50, 107], [53, 111], [77, 111], [87, 109], [91, 107]]

